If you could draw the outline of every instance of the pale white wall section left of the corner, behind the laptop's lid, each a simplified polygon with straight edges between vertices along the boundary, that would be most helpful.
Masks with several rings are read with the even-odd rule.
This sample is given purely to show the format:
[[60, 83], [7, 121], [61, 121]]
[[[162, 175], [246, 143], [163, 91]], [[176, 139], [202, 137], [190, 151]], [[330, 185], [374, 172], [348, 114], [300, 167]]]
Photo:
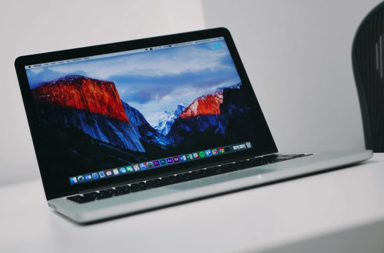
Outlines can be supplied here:
[[17, 56], [204, 28], [200, 0], [0, 0], [0, 186], [39, 177]]

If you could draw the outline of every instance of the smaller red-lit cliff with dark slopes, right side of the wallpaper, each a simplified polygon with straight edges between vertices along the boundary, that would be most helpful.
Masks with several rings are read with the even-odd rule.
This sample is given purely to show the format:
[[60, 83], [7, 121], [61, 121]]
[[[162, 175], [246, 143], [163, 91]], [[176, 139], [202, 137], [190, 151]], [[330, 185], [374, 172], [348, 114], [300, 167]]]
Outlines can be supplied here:
[[201, 141], [215, 146], [215, 141], [225, 139], [236, 143], [254, 131], [250, 113], [243, 86], [239, 83], [195, 99], [175, 120], [167, 136], [178, 145]]

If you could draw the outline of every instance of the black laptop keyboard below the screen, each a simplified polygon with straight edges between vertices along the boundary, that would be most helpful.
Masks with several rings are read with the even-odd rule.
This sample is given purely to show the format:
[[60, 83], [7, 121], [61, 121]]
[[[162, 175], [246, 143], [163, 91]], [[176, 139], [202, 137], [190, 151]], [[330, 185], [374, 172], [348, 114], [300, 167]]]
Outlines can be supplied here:
[[152, 180], [147, 180], [143, 182], [122, 185], [114, 188], [109, 188], [101, 191], [96, 191], [92, 193], [86, 193], [82, 195], [75, 195], [67, 197], [68, 200], [82, 204], [95, 200], [101, 200], [104, 198], [110, 198], [113, 196], [120, 196], [124, 194], [136, 193], [144, 190], [149, 190], [152, 188], [157, 188], [161, 186], [166, 186], [170, 184], [181, 183], [193, 179], [199, 179], [207, 176], [219, 175], [223, 173], [233, 172], [244, 170], [256, 166], [261, 166], [269, 163], [275, 163], [285, 160], [290, 160], [294, 158], [299, 158], [303, 156], [310, 156], [312, 154], [290, 154], [290, 155], [280, 155], [273, 154], [267, 156], [259, 156], [255, 158], [250, 158], [246, 160], [241, 160], [237, 162], [227, 163], [223, 165], [218, 165], [206, 169], [200, 169], [196, 171], [181, 173], [177, 175], [169, 175], [161, 178], [156, 178]]

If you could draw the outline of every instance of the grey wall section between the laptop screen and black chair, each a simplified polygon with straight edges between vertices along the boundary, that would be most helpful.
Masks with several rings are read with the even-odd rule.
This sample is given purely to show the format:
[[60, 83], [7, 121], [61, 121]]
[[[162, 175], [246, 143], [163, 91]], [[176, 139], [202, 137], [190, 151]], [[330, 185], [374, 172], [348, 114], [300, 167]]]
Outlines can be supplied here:
[[231, 31], [279, 150], [364, 148], [351, 44], [380, 0], [203, 0]]

